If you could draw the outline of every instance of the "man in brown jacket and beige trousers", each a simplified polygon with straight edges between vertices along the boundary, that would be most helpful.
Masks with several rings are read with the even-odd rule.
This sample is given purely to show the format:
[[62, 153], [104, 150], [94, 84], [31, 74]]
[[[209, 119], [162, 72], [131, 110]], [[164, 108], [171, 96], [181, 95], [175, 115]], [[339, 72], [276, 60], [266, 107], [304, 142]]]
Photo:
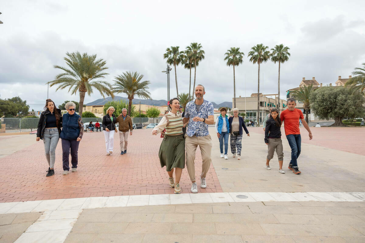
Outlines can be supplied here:
[[126, 108], [122, 109], [122, 113], [116, 118], [116, 122], [119, 123], [120, 154], [123, 155], [127, 153], [128, 132], [129, 132], [128, 130], [130, 130], [129, 132], [130, 135], [132, 135], [133, 131], [132, 118], [129, 115], [127, 115]]

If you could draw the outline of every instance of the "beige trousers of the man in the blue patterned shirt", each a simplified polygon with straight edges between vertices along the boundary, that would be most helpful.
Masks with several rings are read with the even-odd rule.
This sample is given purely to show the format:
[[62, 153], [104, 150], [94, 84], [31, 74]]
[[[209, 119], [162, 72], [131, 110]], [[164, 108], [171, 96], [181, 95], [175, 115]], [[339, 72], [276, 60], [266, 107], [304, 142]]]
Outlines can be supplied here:
[[205, 178], [212, 162], [212, 138], [210, 135], [204, 137], [189, 137], [185, 134], [185, 150], [186, 150], [186, 167], [191, 181], [195, 181], [195, 151], [199, 145], [201, 151], [201, 158], [203, 160], [201, 168], [201, 176]]

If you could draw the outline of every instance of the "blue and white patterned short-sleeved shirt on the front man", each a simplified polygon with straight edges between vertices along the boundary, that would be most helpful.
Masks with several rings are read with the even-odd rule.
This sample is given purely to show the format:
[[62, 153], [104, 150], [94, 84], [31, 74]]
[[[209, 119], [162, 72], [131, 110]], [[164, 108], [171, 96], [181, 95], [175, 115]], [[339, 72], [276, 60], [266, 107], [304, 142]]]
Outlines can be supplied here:
[[208, 119], [208, 115], [214, 115], [213, 104], [204, 99], [203, 104], [201, 104], [199, 111], [196, 110], [195, 100], [190, 101], [186, 105], [185, 117], [189, 118], [189, 124], [187, 129], [187, 134], [189, 137], [197, 136], [204, 137], [209, 135], [208, 124], [200, 121], [193, 121], [194, 117], [200, 117]]

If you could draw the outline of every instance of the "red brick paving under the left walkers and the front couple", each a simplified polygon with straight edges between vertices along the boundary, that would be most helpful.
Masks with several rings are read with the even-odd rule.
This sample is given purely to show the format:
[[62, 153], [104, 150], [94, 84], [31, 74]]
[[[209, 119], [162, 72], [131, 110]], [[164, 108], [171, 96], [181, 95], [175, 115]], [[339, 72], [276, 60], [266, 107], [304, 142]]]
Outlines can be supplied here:
[[[129, 136], [128, 153], [120, 155], [119, 134], [116, 133], [115, 153], [106, 156], [103, 132], [84, 133], [78, 150], [77, 172], [62, 175], [59, 141], [55, 175], [46, 177], [47, 162], [41, 140], [0, 159], [0, 202], [173, 193], [166, 169], [161, 168], [158, 159], [161, 141], [160, 136], [151, 135], [151, 129], [134, 130]], [[196, 174], [199, 176], [199, 148], [196, 155]], [[191, 182], [186, 168], [180, 186], [183, 193], [189, 193]], [[207, 174], [207, 188], [198, 187], [198, 191], [222, 192], [213, 165]]]

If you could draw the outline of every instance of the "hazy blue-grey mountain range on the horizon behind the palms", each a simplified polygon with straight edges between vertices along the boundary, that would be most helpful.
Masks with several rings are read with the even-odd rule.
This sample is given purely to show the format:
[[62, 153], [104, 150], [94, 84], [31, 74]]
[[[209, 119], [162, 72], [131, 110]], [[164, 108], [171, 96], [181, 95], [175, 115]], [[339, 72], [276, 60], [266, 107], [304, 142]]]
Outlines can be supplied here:
[[[121, 99], [128, 104], [128, 102], [129, 102], [128, 98], [120, 97], [120, 96], [115, 96], [114, 97], [114, 101], [120, 101]], [[87, 105], [87, 106], [104, 105], [108, 101], [112, 101], [112, 100], [113, 100], [112, 97], [107, 97], [105, 99], [101, 98], [101, 99], [97, 99], [96, 101], [89, 102], [85, 105]], [[167, 105], [167, 101], [164, 100], [164, 99], [159, 99], [159, 100], [156, 100], [156, 99], [132, 99], [132, 104], [139, 104], [140, 101], [141, 101], [141, 104], [144, 104], [144, 105], [153, 105], [153, 106]], [[217, 109], [219, 107], [231, 107], [232, 106], [232, 102], [228, 102], [228, 101], [222, 102], [220, 104], [212, 102], [212, 104], [213, 104], [214, 108], [217, 108]]]

